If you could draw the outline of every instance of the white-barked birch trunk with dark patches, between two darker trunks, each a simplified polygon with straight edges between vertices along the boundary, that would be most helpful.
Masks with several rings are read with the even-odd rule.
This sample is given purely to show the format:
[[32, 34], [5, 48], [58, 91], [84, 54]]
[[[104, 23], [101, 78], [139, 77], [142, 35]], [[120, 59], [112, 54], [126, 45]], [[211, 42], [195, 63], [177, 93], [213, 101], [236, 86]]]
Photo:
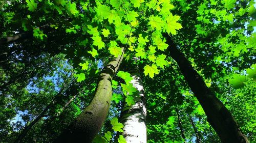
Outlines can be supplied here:
[[144, 88], [138, 67], [130, 71], [133, 80], [131, 83], [138, 92], [135, 93], [135, 104], [124, 105], [121, 122], [123, 123], [123, 136], [126, 142], [146, 143], [146, 101]]

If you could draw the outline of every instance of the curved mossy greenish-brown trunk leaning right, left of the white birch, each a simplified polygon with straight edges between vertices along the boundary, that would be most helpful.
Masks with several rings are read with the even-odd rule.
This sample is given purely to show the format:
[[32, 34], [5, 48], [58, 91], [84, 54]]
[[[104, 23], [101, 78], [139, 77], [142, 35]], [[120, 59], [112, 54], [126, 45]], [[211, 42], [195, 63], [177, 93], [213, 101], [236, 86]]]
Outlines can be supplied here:
[[55, 139], [56, 142], [92, 142], [108, 115], [112, 98], [112, 78], [115, 75], [123, 54], [104, 67], [98, 77], [97, 90], [92, 102], [71, 125]]

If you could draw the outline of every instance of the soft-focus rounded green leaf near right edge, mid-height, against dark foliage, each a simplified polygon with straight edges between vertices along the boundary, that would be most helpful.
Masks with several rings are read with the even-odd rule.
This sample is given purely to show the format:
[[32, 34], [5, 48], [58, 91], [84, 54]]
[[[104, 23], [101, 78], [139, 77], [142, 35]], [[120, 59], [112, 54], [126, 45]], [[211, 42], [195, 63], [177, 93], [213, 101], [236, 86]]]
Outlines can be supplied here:
[[246, 81], [246, 77], [240, 74], [233, 74], [232, 77], [228, 80], [234, 89], [244, 87], [244, 82]]

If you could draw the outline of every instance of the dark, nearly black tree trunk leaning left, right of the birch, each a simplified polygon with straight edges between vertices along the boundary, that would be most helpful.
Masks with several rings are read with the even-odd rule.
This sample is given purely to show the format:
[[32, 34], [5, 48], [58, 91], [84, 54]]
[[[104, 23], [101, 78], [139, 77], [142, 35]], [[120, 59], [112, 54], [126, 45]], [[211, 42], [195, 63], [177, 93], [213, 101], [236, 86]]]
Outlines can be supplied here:
[[207, 116], [207, 121], [219, 135], [222, 142], [247, 143], [247, 137], [243, 134], [230, 111], [206, 86], [203, 78], [191, 66], [184, 54], [179, 51], [170, 36], [166, 35], [170, 56], [177, 62], [188, 85], [202, 105]]

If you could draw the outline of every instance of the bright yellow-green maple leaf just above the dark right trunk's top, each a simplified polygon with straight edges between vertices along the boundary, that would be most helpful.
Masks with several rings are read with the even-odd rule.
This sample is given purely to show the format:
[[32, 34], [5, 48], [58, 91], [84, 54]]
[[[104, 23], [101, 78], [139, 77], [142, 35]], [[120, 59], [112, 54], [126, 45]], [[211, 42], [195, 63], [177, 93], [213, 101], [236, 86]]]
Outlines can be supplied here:
[[176, 30], [179, 30], [180, 28], [182, 28], [180, 23], [177, 23], [177, 21], [180, 19], [179, 16], [175, 15], [173, 16], [173, 14], [170, 14], [167, 18], [166, 18], [166, 24], [165, 24], [165, 28], [166, 28], [166, 32], [167, 33], [171, 33], [173, 35], [176, 35], [177, 32]]

